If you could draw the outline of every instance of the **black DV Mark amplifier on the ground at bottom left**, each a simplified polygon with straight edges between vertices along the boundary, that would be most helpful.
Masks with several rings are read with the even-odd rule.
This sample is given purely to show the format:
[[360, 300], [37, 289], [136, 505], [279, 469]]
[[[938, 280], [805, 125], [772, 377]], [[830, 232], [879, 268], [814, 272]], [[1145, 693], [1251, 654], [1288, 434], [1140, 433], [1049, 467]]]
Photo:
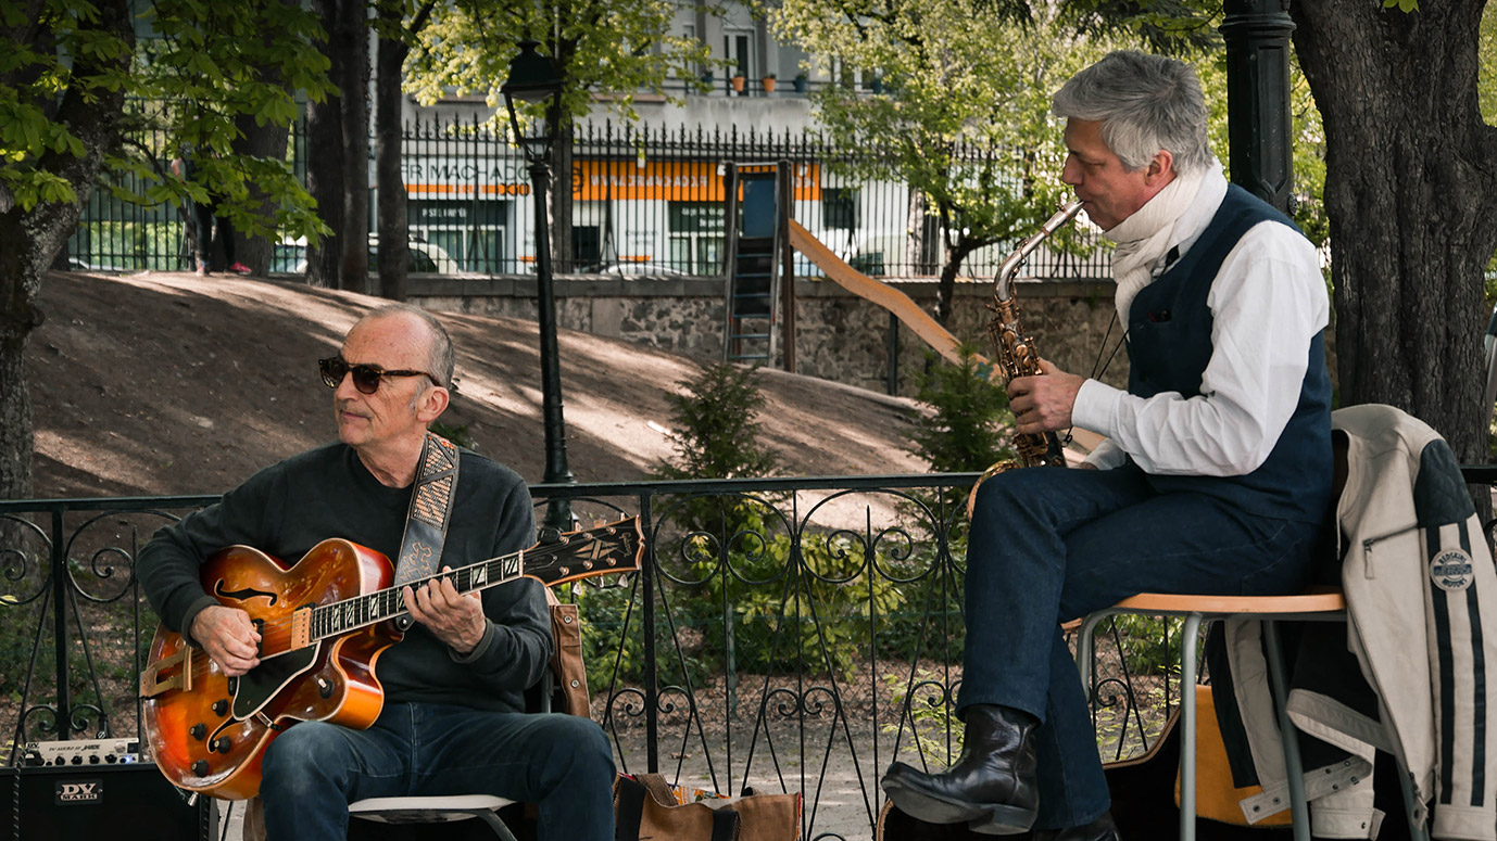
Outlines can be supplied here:
[[150, 762], [0, 768], [0, 841], [217, 841], [217, 828], [213, 798], [187, 805]]

